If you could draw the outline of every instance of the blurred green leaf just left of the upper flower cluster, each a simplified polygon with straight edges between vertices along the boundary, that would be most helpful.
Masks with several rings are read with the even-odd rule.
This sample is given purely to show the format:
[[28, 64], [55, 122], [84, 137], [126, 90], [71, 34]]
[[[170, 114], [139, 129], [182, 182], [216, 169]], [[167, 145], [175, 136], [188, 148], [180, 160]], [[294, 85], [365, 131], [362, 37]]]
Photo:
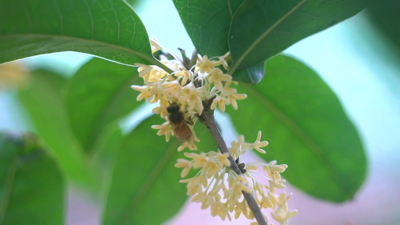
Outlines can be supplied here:
[[137, 67], [93, 58], [70, 79], [67, 110], [72, 130], [87, 153], [104, 128], [132, 112], [141, 102], [132, 84], [140, 85]]

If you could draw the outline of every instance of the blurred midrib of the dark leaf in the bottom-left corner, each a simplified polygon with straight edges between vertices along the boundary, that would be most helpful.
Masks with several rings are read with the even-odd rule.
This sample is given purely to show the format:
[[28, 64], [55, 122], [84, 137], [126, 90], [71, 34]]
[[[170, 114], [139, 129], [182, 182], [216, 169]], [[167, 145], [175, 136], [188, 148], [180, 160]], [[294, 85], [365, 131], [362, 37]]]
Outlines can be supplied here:
[[10, 195], [12, 192], [12, 186], [14, 185], [15, 174], [18, 167], [19, 155], [16, 154], [11, 161], [10, 167], [8, 168], [6, 175], [6, 183], [4, 184], [4, 194], [0, 201], [0, 224], [3, 224], [3, 220], [6, 216], [8, 203], [10, 201]]

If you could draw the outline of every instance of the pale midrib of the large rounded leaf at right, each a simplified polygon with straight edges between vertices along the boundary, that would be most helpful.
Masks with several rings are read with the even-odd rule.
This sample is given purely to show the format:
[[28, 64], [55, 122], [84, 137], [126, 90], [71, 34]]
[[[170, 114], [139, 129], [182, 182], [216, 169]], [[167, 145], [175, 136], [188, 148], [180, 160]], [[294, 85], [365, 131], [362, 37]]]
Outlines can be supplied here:
[[337, 170], [332, 167], [332, 164], [326, 157], [324, 157], [324, 153], [322, 151], [322, 148], [312, 140], [312, 138], [305, 132], [303, 131], [296, 123], [294, 123], [288, 116], [286, 116], [281, 110], [278, 109], [272, 102], [270, 102], [265, 96], [260, 94], [258, 91], [254, 90], [253, 88], [249, 88], [248, 86], [243, 85], [242, 86], [244, 89], [246, 89], [247, 92], [253, 94], [259, 102], [261, 102], [266, 108], [272, 112], [286, 127], [288, 127], [291, 131], [293, 131], [299, 138], [302, 140], [310, 149], [311, 152], [314, 153], [314, 155], [318, 158], [321, 159], [322, 165], [325, 167], [327, 171], [330, 171], [330, 174], [332, 175], [332, 178], [335, 179], [337, 184], [340, 184], [340, 188], [342, 189], [342, 192], [346, 194], [345, 185], [340, 179], [340, 174], [338, 173]]

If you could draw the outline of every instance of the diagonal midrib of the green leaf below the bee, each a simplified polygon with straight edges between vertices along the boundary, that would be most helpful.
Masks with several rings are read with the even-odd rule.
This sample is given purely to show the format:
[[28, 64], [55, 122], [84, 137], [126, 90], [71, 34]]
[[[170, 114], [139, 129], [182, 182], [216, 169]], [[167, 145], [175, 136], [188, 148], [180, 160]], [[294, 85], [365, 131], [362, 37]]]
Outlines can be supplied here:
[[173, 153], [178, 151], [177, 147], [178, 147], [177, 141], [174, 141], [173, 143], [171, 143], [170, 147], [165, 152], [165, 154], [162, 156], [161, 160], [154, 167], [154, 169], [152, 170], [150, 175], [147, 176], [147, 179], [143, 182], [143, 185], [138, 189], [136, 194], [134, 194], [134, 197], [132, 198], [131, 202], [128, 203], [128, 208], [122, 214], [122, 218], [121, 218], [120, 222], [123, 223], [123, 222], [125, 222], [125, 219], [128, 218], [129, 215], [134, 215], [134, 212], [140, 206], [140, 203], [143, 201], [143, 199], [149, 193], [148, 191], [150, 191], [151, 185], [156, 181], [157, 177], [163, 171], [163, 168], [168, 163], [168, 161], [171, 159]]

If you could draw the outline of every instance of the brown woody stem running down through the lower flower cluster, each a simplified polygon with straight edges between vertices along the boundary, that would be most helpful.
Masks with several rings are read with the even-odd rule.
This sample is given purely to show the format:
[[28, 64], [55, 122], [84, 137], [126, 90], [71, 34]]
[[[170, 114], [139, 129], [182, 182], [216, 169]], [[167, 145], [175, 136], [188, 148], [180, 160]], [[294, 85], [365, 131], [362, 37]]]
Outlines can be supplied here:
[[[232, 167], [232, 170], [235, 171], [237, 174], [242, 174], [240, 171], [238, 165], [236, 164], [235, 160], [233, 159], [232, 155], [230, 155], [229, 149], [222, 138], [221, 132], [218, 129], [217, 123], [215, 122], [215, 117], [212, 113], [208, 111], [208, 106], [204, 108], [202, 115], [199, 118], [199, 121], [206, 125], [208, 130], [210, 131], [212, 137], [214, 137], [215, 142], [218, 145], [218, 148], [220, 149], [221, 153], [228, 153], [229, 157], [228, 160], [230, 161], [230, 165]], [[254, 217], [256, 218], [257, 222], [259, 225], [267, 225], [267, 221], [264, 217], [264, 214], [261, 212], [260, 207], [258, 207], [258, 204], [256, 202], [256, 199], [254, 199], [253, 195], [251, 193], [247, 193], [245, 191], [242, 191], [244, 198], [246, 199], [250, 210], [253, 212]]]

